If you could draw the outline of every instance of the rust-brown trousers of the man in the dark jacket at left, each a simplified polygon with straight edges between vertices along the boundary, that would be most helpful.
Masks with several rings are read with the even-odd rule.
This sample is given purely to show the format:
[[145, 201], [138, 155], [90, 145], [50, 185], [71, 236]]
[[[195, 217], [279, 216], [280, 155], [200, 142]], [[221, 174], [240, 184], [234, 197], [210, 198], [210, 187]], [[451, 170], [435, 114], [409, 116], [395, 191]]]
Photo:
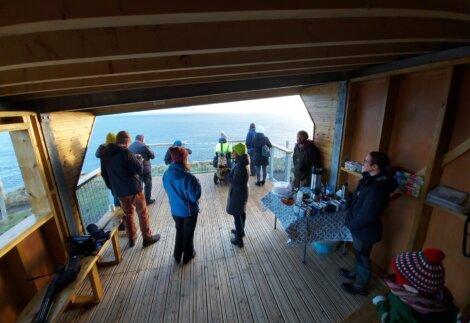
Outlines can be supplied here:
[[139, 192], [135, 195], [119, 196], [119, 202], [122, 211], [126, 215], [124, 220], [126, 221], [127, 237], [132, 240], [137, 238], [137, 230], [134, 222], [134, 211], [137, 210], [140, 232], [142, 232], [144, 239], [150, 238], [152, 236], [152, 230], [150, 230], [150, 220], [144, 193]]

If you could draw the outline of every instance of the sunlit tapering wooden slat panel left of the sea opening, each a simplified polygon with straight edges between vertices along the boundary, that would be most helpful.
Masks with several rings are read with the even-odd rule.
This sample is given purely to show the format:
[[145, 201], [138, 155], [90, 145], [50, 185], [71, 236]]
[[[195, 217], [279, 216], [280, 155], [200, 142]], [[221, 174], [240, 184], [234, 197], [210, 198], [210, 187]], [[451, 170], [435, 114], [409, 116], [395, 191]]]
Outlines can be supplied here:
[[87, 112], [57, 112], [51, 113], [50, 117], [72, 208], [75, 215], [78, 216], [75, 187], [80, 178], [95, 116]]

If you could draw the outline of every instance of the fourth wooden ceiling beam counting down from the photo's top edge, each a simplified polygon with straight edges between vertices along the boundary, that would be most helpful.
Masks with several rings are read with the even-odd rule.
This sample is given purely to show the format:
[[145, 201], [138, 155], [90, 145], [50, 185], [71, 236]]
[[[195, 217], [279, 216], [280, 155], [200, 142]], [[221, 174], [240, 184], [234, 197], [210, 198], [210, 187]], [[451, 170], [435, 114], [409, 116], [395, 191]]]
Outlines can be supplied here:
[[131, 85], [160, 82], [165, 84], [172, 81], [185, 83], [198, 82], [201, 79], [230, 77], [245, 78], [260, 73], [284, 73], [289, 71], [315, 70], [315, 69], [357, 69], [357, 66], [383, 64], [397, 59], [397, 56], [388, 57], [362, 57], [347, 59], [332, 59], [321, 61], [291, 62], [280, 64], [259, 64], [257, 66], [235, 66], [210, 69], [176, 70], [151, 72], [145, 74], [118, 75], [110, 77], [87, 78], [80, 80], [56, 81], [28, 85], [15, 85], [0, 88], [0, 96], [16, 96], [28, 93], [46, 93], [50, 91], [77, 89], [82, 91], [99, 91], [109, 89], [116, 85]]

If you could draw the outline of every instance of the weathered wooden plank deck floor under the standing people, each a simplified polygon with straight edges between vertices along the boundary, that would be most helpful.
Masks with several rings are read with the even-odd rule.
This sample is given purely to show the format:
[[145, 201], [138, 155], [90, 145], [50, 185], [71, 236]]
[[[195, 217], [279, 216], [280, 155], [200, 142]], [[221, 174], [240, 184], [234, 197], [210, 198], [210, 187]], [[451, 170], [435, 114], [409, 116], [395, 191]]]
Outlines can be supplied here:
[[[352, 267], [351, 254], [308, 248], [302, 263], [303, 248], [287, 245], [282, 227], [274, 230], [272, 213], [261, 207], [270, 184], [257, 187], [250, 178], [245, 247], [238, 249], [230, 243], [233, 218], [225, 213], [228, 186], [214, 185], [213, 174], [197, 177], [203, 194], [196, 258], [186, 266], [174, 262], [174, 222], [161, 177], [155, 177], [151, 224], [161, 240], [142, 249], [139, 236], [129, 248], [121, 236], [122, 262], [100, 269], [102, 302], [68, 310], [62, 322], [340, 322], [370, 301], [341, 291], [338, 268]], [[371, 294], [380, 288], [374, 277]], [[81, 292], [89, 291], [85, 283]]]

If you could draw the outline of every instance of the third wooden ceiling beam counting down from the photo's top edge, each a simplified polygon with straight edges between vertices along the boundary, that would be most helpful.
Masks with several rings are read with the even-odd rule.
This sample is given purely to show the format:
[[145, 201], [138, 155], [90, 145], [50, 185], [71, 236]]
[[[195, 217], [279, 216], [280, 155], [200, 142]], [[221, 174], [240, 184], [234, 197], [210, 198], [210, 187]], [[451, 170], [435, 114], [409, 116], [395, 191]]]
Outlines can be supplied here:
[[397, 43], [332, 47], [240, 51], [220, 54], [152, 57], [143, 59], [52, 65], [0, 72], [0, 88], [13, 85], [68, 81], [93, 77], [247, 66], [340, 58], [419, 55], [439, 50], [436, 44]]

